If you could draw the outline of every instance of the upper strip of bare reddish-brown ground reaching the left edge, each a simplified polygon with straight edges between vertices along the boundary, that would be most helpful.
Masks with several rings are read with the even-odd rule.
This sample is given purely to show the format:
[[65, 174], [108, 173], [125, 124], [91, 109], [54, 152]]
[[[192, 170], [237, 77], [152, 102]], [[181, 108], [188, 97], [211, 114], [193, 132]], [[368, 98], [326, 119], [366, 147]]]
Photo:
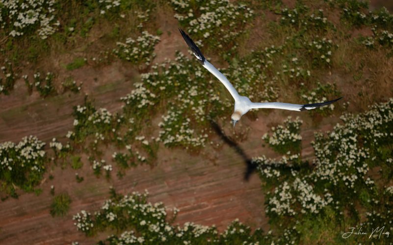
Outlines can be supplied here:
[[[137, 76], [130, 79], [129, 69], [115, 62], [100, 69], [85, 66], [72, 71], [73, 77], [83, 82], [79, 94], [67, 92], [43, 99], [37, 93], [29, 96], [21, 87], [8, 97], [1, 96], [1, 142], [17, 142], [27, 135], [35, 135], [44, 141], [65, 136], [73, 127], [72, 108], [83, 103], [85, 94], [94, 98], [98, 107], [105, 107], [110, 112], [118, 111], [122, 105], [120, 97], [129, 93], [133, 80], [138, 79]], [[62, 76], [60, 73], [59, 77]], [[23, 81], [18, 81], [20, 83]]]

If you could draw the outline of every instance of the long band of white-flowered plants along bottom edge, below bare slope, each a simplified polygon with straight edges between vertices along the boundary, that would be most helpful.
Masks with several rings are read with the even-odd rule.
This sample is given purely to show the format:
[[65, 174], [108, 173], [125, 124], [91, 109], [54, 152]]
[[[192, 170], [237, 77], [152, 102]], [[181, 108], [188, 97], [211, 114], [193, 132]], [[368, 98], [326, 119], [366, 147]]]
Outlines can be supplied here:
[[[147, 202], [148, 192], [144, 194], [133, 192], [131, 195], [120, 195], [112, 190], [110, 199], [105, 200], [100, 210], [90, 213], [82, 211], [74, 216], [74, 223], [79, 231], [86, 235], [94, 234], [98, 229], [117, 229], [121, 235], [110, 235], [105, 242], [109, 244], [143, 244], [149, 241], [152, 244], [201, 244], [219, 243], [224, 239], [225, 243], [232, 244], [236, 235], [248, 236], [250, 227], [240, 223], [237, 219], [232, 222], [222, 237], [218, 237], [214, 225], [199, 225], [193, 222], [184, 223], [183, 227], [173, 225], [173, 220], [179, 211], [174, 208], [173, 219], [168, 221], [167, 208], [161, 202]], [[130, 230], [124, 231], [127, 227]], [[137, 237], [135, 234], [138, 234]], [[252, 239], [251, 236], [246, 239]], [[238, 241], [238, 240], [236, 240]], [[103, 242], [103, 241], [102, 241]], [[252, 244], [252, 243], [247, 243]], [[258, 243], [257, 243], [258, 244]]]

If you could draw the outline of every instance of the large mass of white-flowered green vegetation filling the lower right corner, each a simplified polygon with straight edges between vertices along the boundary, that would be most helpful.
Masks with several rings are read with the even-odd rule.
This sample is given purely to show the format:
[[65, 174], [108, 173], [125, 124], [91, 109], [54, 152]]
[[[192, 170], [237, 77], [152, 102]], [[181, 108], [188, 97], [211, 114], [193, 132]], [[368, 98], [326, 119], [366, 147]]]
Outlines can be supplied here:
[[[315, 133], [314, 169], [299, 168], [299, 164], [305, 167], [308, 163], [299, 163], [300, 159], [293, 156], [279, 162], [265, 157], [254, 159], [268, 190], [274, 187], [266, 196], [266, 213], [272, 228], [295, 226], [297, 235], [292, 241], [320, 243], [339, 239], [347, 231], [347, 223], [362, 222], [369, 229], [388, 225], [393, 218], [390, 212], [393, 188], [387, 187], [391, 180], [385, 176], [377, 185], [367, 174], [374, 167], [391, 173], [391, 166], [386, 163], [393, 162], [392, 110], [390, 99], [373, 105], [365, 113], [342, 116], [344, 123], [331, 132]], [[378, 150], [382, 148], [384, 154]], [[366, 220], [359, 213], [362, 209], [367, 214]], [[320, 222], [323, 220], [332, 225], [320, 225], [325, 223]], [[324, 233], [327, 237], [320, 236], [324, 228], [330, 230]], [[367, 239], [358, 236], [349, 241], [366, 243]], [[380, 241], [378, 236], [371, 239]]]

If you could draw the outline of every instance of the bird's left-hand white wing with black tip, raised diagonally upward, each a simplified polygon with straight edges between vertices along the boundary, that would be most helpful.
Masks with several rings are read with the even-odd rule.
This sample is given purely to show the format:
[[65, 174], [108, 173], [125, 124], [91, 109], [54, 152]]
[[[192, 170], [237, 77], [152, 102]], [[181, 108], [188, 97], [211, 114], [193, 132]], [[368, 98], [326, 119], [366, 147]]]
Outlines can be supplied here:
[[201, 50], [199, 50], [199, 48], [195, 45], [194, 41], [192, 41], [192, 39], [182, 29], [179, 30], [180, 33], [182, 33], [182, 36], [185, 42], [187, 43], [188, 47], [190, 47], [195, 57], [197, 57], [199, 63], [201, 63], [203, 67], [208, 69], [210, 73], [212, 73], [215, 77], [217, 77], [218, 80], [222, 82], [222, 84], [224, 84], [224, 86], [228, 89], [229, 93], [231, 93], [232, 97], [235, 100], [239, 98], [239, 94], [237, 93], [234, 86], [232, 86], [232, 84], [228, 81], [228, 79], [222, 73], [220, 73], [212, 64], [210, 64], [209, 61], [205, 59]]

